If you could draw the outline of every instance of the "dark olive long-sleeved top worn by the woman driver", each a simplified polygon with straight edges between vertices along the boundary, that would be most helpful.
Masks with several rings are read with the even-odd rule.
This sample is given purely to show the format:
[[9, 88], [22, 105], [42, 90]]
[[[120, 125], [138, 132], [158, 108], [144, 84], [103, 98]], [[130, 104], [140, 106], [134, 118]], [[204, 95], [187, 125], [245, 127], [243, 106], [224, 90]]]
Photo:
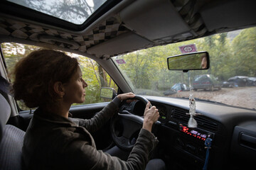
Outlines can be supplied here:
[[157, 140], [142, 129], [127, 159], [97, 150], [90, 132], [98, 130], [118, 112], [114, 99], [90, 120], [63, 118], [38, 108], [23, 143], [26, 169], [145, 169], [149, 153]]

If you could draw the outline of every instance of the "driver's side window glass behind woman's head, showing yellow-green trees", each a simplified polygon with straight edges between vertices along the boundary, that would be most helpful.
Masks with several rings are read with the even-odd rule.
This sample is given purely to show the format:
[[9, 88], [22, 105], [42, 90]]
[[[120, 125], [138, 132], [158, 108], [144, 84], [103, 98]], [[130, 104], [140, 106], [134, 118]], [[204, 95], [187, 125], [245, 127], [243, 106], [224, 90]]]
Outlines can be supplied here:
[[[22, 45], [18, 43], [2, 43], [1, 49], [4, 54], [4, 59], [6, 62], [7, 72], [11, 76], [11, 72], [18, 60], [25, 57], [33, 50], [38, 50], [40, 47], [33, 45]], [[82, 70], [82, 78], [86, 81], [88, 86], [86, 87], [85, 102], [73, 105], [82, 105], [90, 103], [100, 103], [105, 101], [110, 101], [107, 99], [100, 98], [100, 89], [102, 86], [114, 88], [117, 91], [117, 85], [111, 79], [111, 77], [105, 72], [105, 70], [97, 64], [95, 60], [82, 55], [76, 55], [70, 52], [66, 52], [67, 55], [71, 57], [76, 57], [80, 63], [80, 68]], [[11, 77], [10, 77], [11, 79]], [[11, 79], [11, 81], [13, 81]], [[29, 108], [25, 106], [22, 101], [17, 101], [18, 106], [26, 111]]]

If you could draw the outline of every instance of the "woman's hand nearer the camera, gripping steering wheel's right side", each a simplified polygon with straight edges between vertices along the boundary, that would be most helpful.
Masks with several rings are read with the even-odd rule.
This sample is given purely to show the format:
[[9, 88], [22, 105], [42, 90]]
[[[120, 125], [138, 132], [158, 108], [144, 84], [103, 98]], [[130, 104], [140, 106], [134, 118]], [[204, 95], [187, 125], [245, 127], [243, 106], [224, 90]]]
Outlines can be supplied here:
[[149, 108], [150, 102], [146, 104], [142, 128], [151, 132], [152, 125], [159, 119], [159, 111], [156, 106]]

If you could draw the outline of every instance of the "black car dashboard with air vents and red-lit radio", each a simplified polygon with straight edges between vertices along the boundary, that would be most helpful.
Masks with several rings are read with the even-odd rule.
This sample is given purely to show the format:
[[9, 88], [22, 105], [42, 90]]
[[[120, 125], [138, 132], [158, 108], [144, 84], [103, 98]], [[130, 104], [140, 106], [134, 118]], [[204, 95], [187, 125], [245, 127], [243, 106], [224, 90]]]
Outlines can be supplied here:
[[[165, 152], [165, 157], [177, 162], [177, 169], [188, 167], [201, 169], [206, 159], [205, 141], [212, 140], [210, 147], [210, 169], [244, 167], [253, 164], [256, 156], [256, 111], [235, 108], [215, 103], [196, 103], [195, 117], [198, 127], [188, 128], [186, 115], [189, 111], [188, 100], [144, 96], [159, 109], [159, 125], [155, 135]], [[142, 117], [145, 105], [142, 101], [126, 103], [121, 113], [130, 113]], [[238, 161], [239, 160], [239, 161]]]

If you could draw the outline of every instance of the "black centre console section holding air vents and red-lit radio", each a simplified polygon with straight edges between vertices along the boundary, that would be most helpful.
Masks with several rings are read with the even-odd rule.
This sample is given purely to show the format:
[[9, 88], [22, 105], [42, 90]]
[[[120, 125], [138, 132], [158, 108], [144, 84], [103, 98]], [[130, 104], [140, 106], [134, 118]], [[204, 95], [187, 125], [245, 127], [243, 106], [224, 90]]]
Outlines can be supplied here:
[[[160, 113], [159, 118], [162, 123], [161, 130], [166, 132], [160, 139], [164, 140], [169, 153], [175, 153], [174, 160], [183, 160], [183, 162], [190, 160], [191, 164], [195, 165], [195, 169], [201, 169], [206, 157], [204, 142], [208, 135], [213, 139], [212, 149], [210, 150], [211, 159], [224, 159], [220, 152], [225, 150], [225, 145], [220, 144], [225, 144], [227, 136], [225, 136], [225, 128], [221, 123], [201, 115], [196, 116], [198, 128], [188, 128], [189, 115], [186, 115], [188, 109], [155, 103], [154, 101], [151, 101], [151, 103], [156, 108], [160, 108], [161, 112], [165, 112], [165, 114]], [[161, 118], [162, 115], [164, 115], [164, 118]], [[171, 138], [166, 140], [166, 135], [171, 136]]]

